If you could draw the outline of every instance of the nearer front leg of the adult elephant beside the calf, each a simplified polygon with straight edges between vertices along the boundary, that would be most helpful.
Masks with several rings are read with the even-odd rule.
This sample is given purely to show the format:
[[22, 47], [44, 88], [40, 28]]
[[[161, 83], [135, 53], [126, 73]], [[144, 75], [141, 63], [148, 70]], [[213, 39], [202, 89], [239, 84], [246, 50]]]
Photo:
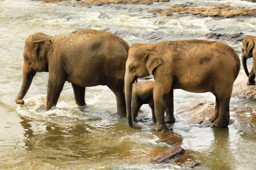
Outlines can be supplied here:
[[[169, 77], [168, 77], [169, 78]], [[167, 127], [164, 121], [164, 111], [166, 106], [166, 97], [169, 95], [172, 88], [173, 79], [164, 79], [162, 77], [155, 77], [154, 84], [154, 107], [155, 115], [157, 118], [157, 124], [154, 126], [154, 130], [160, 131]]]

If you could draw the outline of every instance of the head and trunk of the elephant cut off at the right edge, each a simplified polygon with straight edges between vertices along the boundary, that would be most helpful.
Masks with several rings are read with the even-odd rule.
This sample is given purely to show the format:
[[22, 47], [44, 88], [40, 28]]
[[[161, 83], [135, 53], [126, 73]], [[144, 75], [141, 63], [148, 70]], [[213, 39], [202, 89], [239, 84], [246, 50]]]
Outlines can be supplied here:
[[256, 37], [245, 37], [243, 42], [242, 42], [242, 63], [243, 63], [243, 67], [244, 67], [244, 71], [247, 75], [247, 77], [249, 77], [249, 71], [247, 69], [247, 64], [246, 61], [248, 58], [253, 57], [253, 70], [254, 73], [256, 73], [256, 48], [255, 47], [255, 40]]

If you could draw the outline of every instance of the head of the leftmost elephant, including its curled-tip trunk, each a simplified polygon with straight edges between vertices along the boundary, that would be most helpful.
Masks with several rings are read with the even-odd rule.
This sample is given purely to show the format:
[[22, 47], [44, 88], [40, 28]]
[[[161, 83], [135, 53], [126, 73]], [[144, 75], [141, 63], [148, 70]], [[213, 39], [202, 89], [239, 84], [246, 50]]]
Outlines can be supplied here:
[[28, 37], [23, 52], [23, 80], [20, 93], [15, 102], [23, 105], [36, 72], [48, 72], [48, 57], [53, 48], [50, 37], [43, 33], [35, 33]]

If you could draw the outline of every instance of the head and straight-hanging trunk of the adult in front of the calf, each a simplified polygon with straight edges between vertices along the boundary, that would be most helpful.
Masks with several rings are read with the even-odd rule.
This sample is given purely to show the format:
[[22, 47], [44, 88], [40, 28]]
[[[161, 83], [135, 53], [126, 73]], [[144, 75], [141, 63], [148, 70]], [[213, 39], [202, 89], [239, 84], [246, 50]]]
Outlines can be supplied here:
[[131, 117], [132, 84], [137, 78], [152, 74], [154, 68], [161, 63], [158, 51], [152, 45], [134, 44], [128, 52], [125, 71], [125, 102], [130, 127], [133, 127]]

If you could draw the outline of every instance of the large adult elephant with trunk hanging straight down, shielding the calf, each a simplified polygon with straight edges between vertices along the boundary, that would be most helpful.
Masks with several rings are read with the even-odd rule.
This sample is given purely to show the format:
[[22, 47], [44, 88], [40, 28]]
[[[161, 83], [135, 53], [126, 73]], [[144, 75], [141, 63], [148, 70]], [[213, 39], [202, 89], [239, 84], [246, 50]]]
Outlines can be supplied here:
[[[240, 60], [229, 45], [206, 40], [164, 41], [157, 44], [134, 44], [126, 62], [125, 100], [129, 126], [131, 119], [132, 82], [138, 77], [154, 75], [154, 108], [162, 130], [166, 122], [174, 122], [173, 89], [215, 95], [215, 113], [210, 120], [215, 127], [227, 127], [233, 82], [240, 71]], [[166, 105], [166, 108], [165, 108]], [[169, 119], [164, 111], [169, 110]]]

